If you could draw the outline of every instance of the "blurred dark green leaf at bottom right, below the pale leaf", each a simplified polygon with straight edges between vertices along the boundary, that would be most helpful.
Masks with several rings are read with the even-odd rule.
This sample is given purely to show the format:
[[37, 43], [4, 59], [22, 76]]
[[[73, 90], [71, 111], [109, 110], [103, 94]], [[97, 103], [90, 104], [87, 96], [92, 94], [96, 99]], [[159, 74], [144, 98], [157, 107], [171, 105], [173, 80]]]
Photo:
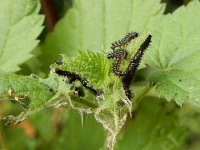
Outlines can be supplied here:
[[119, 150], [177, 150], [182, 147], [186, 128], [181, 126], [176, 105], [160, 103], [148, 97], [139, 106], [136, 117], [128, 120], [119, 136]]

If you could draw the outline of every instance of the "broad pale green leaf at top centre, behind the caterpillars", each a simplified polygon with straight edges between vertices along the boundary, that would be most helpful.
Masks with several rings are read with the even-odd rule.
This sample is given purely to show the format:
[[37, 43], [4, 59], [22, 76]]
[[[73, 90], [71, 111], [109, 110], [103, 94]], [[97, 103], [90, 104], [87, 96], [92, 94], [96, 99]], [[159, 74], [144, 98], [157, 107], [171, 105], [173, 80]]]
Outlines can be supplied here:
[[[160, 2], [73, 0], [73, 7], [43, 44], [43, 70], [47, 70], [60, 53], [72, 56], [77, 50], [109, 51], [112, 42], [130, 31], [150, 31], [163, 16], [165, 5]], [[44, 60], [44, 56], [49, 59]]]

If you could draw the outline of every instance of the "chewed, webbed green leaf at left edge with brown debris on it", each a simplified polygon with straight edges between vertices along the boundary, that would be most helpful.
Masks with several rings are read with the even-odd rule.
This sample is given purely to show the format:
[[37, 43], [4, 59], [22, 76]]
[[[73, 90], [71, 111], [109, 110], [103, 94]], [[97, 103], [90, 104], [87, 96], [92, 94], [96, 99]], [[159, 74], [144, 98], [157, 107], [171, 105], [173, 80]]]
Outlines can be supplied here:
[[16, 75], [14, 73], [0, 73], [0, 100], [19, 103], [24, 110], [17, 116], [6, 116], [6, 124], [18, 124], [30, 114], [47, 107], [58, 108], [67, 104], [70, 85], [63, 78], [50, 74], [41, 79], [31, 76]]

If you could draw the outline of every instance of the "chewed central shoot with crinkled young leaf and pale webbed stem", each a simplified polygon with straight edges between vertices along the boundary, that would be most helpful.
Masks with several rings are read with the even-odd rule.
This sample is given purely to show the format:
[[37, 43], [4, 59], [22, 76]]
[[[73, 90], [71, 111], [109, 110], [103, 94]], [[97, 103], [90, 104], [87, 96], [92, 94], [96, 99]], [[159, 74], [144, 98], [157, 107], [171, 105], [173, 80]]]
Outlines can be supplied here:
[[[52, 72], [56, 68], [74, 72], [82, 77], [87, 77], [86, 79], [90, 86], [103, 90], [103, 93], [95, 98], [99, 104], [96, 107], [97, 109], [89, 111], [83, 110], [83, 106], [81, 105], [74, 105], [73, 107], [86, 114], [91, 112], [95, 114], [95, 119], [101, 123], [107, 131], [105, 147], [113, 149], [116, 142], [116, 136], [124, 125], [127, 116], [127, 111], [125, 111], [123, 107], [117, 106], [117, 102], [127, 101], [125, 95], [122, 94], [123, 89], [122, 84], [120, 84], [121, 80], [112, 75], [110, 72], [111, 64], [102, 53], [87, 51], [79, 52], [79, 55], [72, 58], [69, 58], [66, 55], [62, 55], [62, 57], [63, 64], [53, 64]], [[112, 87], [112, 91], [109, 86]], [[73, 99], [71, 99], [71, 101], [73, 102]], [[115, 123], [113, 124], [113, 122]]]

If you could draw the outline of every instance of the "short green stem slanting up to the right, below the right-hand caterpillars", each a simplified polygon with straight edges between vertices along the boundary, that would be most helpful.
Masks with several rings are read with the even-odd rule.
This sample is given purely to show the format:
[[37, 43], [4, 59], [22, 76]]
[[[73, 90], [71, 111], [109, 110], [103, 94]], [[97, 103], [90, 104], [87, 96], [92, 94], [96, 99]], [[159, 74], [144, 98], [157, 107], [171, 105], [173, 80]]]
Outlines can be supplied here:
[[136, 95], [132, 100], [132, 110], [135, 110], [138, 103], [142, 100], [142, 98], [154, 87], [153, 83], [148, 84], [141, 93]]

